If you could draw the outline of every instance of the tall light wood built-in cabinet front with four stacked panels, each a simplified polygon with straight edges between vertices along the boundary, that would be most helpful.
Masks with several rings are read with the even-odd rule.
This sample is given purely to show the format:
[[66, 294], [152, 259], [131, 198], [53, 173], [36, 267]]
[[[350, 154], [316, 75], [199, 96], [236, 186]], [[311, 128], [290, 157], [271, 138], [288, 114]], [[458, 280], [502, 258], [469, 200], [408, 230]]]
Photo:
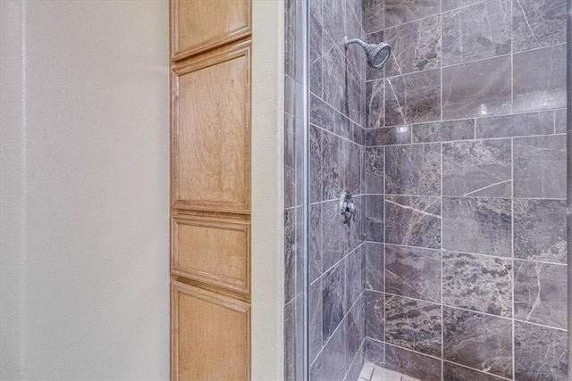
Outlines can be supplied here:
[[250, 378], [251, 0], [171, 0], [171, 377]]

